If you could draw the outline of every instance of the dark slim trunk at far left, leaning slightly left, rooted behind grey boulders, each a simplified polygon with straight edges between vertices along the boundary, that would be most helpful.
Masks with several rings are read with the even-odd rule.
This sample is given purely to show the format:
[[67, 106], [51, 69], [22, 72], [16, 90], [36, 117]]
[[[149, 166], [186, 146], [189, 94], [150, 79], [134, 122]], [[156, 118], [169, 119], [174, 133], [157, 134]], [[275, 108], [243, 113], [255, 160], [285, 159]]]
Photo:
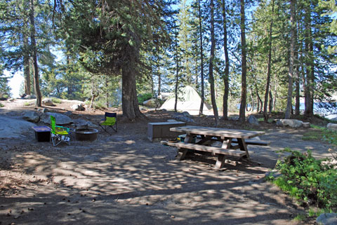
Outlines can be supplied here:
[[34, 21], [34, 0], [30, 0], [30, 41], [33, 51], [33, 64], [34, 64], [34, 90], [37, 95], [37, 107], [41, 107], [42, 96], [39, 85], [39, 67], [37, 65], [37, 42], [35, 41], [35, 21]]

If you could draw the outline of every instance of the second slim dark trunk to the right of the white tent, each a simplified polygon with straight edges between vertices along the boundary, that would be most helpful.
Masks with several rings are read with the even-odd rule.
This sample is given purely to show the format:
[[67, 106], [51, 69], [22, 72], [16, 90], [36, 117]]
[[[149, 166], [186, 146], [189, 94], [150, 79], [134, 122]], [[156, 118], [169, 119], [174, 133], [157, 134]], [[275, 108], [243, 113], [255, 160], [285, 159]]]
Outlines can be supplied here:
[[225, 85], [225, 90], [223, 93], [223, 119], [228, 120], [228, 95], [230, 93], [230, 57], [228, 56], [228, 46], [227, 46], [227, 17], [226, 17], [226, 6], [225, 0], [222, 2], [223, 6], [223, 50], [225, 52], [225, 76], [223, 76], [223, 84]]

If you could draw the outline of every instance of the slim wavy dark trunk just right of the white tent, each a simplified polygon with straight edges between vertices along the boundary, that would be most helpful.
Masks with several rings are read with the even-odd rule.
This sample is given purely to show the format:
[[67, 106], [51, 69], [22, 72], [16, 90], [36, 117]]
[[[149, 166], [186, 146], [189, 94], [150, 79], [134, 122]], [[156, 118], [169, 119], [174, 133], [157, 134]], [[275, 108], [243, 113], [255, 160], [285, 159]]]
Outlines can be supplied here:
[[214, 2], [211, 0], [211, 55], [209, 57], [209, 84], [211, 85], [211, 101], [213, 107], [213, 113], [215, 118], [215, 126], [218, 126], [219, 115], [218, 107], [216, 107], [216, 92], [214, 90], [214, 76], [213, 76], [213, 60], [214, 60], [214, 51], [216, 46], [216, 39], [214, 37]]

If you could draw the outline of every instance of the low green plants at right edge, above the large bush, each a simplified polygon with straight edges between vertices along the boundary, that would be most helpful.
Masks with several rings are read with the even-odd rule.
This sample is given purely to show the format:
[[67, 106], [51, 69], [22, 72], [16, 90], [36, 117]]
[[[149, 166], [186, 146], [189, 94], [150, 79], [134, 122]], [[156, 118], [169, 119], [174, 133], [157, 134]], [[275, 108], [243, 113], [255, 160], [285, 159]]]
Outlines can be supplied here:
[[337, 146], [337, 132], [319, 127], [317, 125], [311, 125], [311, 127], [315, 128], [315, 130], [305, 132], [302, 137], [303, 140], [323, 141]]

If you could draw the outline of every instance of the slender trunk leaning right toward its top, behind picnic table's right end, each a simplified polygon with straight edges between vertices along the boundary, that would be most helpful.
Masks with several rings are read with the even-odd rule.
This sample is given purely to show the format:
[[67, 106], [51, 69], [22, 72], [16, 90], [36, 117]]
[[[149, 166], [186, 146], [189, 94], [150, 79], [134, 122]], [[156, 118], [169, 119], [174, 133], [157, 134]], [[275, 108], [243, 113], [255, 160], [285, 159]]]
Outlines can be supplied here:
[[265, 86], [265, 104], [263, 106], [263, 117], [265, 118], [265, 122], [268, 121], [268, 114], [267, 114], [267, 104], [268, 104], [268, 95], [270, 90], [270, 70], [272, 66], [272, 23], [274, 17], [274, 0], [272, 0], [272, 18], [270, 21], [269, 27], [269, 49], [268, 49], [268, 65], [267, 65], [267, 84]]

